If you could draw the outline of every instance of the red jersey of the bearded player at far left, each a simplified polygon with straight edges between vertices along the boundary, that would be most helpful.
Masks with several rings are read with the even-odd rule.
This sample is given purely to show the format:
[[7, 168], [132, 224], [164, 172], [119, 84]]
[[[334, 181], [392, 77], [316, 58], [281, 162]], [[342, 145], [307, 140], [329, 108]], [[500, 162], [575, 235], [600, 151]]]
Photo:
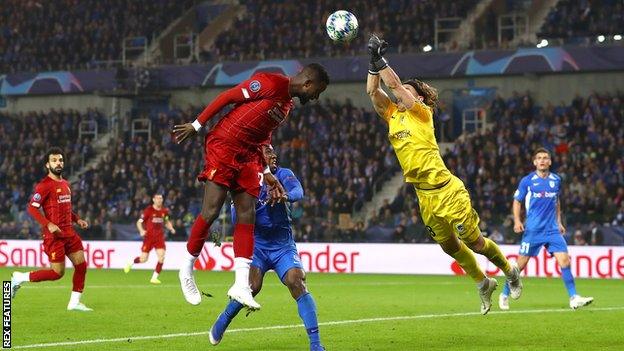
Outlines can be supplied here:
[[[56, 237], [73, 236], [72, 227], [72, 207], [71, 189], [69, 182], [65, 179], [54, 180], [48, 176], [43, 178], [35, 186], [35, 194], [32, 196], [30, 205], [37, 210], [43, 208], [44, 216], [52, 223], [56, 224], [61, 233], [56, 233]], [[52, 235], [47, 227], [43, 227], [43, 236]]]

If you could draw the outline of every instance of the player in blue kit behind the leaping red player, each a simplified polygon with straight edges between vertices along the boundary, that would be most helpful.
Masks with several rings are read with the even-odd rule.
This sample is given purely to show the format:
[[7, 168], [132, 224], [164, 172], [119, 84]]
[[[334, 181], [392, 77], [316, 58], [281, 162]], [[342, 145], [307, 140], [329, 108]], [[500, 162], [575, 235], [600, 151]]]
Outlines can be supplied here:
[[[262, 153], [271, 173], [275, 175], [275, 178], [286, 190], [287, 202], [292, 203], [303, 199], [301, 183], [290, 169], [277, 166], [277, 155], [275, 155], [273, 147], [263, 145]], [[305, 272], [293, 239], [290, 208], [285, 203], [277, 203], [271, 206], [267, 202], [268, 198], [267, 187], [263, 185], [256, 204], [255, 246], [249, 271], [252, 294], [256, 296], [260, 292], [264, 274], [271, 269], [275, 270], [282, 283], [288, 287], [290, 294], [297, 301], [299, 316], [310, 339], [310, 351], [323, 351], [325, 348], [321, 345], [316, 318], [316, 304], [306, 288]], [[232, 217], [232, 222], [234, 222], [234, 208], [232, 208]], [[225, 310], [210, 328], [208, 337], [212, 345], [221, 342], [228, 325], [243, 307], [236, 300], [231, 300], [225, 307]]]

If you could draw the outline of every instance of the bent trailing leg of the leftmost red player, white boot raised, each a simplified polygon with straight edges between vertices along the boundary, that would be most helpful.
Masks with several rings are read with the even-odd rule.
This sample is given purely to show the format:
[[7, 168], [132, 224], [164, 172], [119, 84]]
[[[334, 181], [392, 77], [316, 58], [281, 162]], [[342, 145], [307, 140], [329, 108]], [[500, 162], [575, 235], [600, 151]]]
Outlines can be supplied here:
[[50, 261], [50, 269], [32, 272], [13, 272], [11, 276], [11, 298], [14, 298], [21, 285], [25, 282], [42, 282], [58, 280], [65, 275], [65, 246], [61, 239], [44, 239], [44, 251]]

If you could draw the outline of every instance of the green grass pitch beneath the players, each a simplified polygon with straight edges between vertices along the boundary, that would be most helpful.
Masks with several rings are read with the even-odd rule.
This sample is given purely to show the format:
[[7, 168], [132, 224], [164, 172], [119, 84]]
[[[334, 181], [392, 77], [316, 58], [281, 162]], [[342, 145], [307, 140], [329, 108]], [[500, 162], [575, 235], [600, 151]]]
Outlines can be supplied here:
[[[0, 272], [9, 280], [13, 270]], [[177, 272], [163, 271], [163, 284], [154, 286], [151, 271], [89, 270], [83, 302], [95, 311], [81, 313], [65, 310], [72, 274], [68, 269], [60, 281], [20, 289], [12, 306], [13, 348], [115, 339], [34, 349], [213, 349], [207, 331], [233, 281], [231, 272], [196, 272], [200, 290], [215, 297], [191, 306], [182, 297]], [[512, 313], [498, 310], [503, 279], [498, 281], [492, 311], [481, 316], [477, 290], [466, 277], [308, 275], [328, 350], [621, 350], [624, 345], [621, 280], [577, 280], [578, 291], [596, 301], [572, 311], [560, 279], [525, 279]], [[267, 274], [257, 300], [262, 310], [249, 317], [242, 311], [214, 350], [308, 349], [297, 306], [274, 273]], [[399, 318], [387, 319], [393, 317]], [[241, 330], [247, 328], [256, 329]], [[179, 333], [190, 335], [170, 335]]]

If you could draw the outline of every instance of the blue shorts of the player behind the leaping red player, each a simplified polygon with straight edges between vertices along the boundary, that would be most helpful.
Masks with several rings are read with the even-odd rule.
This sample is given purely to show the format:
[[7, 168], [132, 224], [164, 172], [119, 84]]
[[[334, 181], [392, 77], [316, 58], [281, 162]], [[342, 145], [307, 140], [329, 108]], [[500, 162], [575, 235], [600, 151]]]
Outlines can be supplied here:
[[277, 250], [261, 249], [256, 246], [251, 265], [258, 267], [262, 274], [271, 269], [274, 270], [282, 282], [286, 273], [292, 268], [303, 269], [297, 247], [294, 245]]

